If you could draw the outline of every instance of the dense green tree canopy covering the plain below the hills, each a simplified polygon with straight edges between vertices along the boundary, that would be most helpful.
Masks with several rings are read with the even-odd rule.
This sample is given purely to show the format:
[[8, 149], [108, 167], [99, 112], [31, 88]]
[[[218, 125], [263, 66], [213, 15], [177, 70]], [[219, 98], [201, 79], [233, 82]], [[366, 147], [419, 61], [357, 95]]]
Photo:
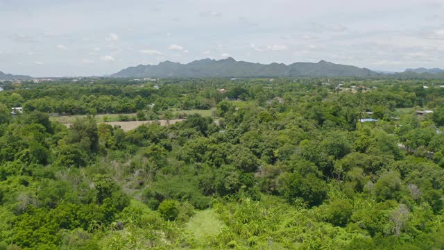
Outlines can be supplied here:
[[0, 249], [443, 249], [441, 85], [2, 83]]

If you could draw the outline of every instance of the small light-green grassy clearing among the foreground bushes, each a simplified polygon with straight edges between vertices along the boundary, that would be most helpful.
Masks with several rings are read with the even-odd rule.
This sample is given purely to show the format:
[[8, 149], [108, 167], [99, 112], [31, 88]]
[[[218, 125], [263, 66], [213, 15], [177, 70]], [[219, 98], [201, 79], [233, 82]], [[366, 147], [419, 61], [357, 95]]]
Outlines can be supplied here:
[[209, 235], [217, 235], [225, 225], [211, 210], [196, 210], [196, 214], [189, 219], [187, 230], [194, 234], [199, 242], [206, 242]]

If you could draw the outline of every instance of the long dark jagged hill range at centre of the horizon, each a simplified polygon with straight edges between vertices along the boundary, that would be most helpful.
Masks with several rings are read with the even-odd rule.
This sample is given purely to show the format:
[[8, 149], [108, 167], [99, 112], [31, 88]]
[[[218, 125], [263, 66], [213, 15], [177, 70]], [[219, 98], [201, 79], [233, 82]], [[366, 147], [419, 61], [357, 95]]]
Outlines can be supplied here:
[[138, 65], [112, 74], [114, 77], [261, 77], [261, 76], [377, 76], [370, 69], [339, 65], [321, 60], [318, 63], [248, 63], [233, 58], [203, 59], [188, 64], [165, 61], [158, 65]]

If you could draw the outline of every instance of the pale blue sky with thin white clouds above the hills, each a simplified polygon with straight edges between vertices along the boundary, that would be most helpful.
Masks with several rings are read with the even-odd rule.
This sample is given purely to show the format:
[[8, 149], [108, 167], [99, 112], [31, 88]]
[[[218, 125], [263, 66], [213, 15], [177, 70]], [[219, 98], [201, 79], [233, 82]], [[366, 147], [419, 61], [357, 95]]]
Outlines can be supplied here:
[[444, 68], [442, 0], [0, 0], [0, 71], [102, 76], [164, 60]]

